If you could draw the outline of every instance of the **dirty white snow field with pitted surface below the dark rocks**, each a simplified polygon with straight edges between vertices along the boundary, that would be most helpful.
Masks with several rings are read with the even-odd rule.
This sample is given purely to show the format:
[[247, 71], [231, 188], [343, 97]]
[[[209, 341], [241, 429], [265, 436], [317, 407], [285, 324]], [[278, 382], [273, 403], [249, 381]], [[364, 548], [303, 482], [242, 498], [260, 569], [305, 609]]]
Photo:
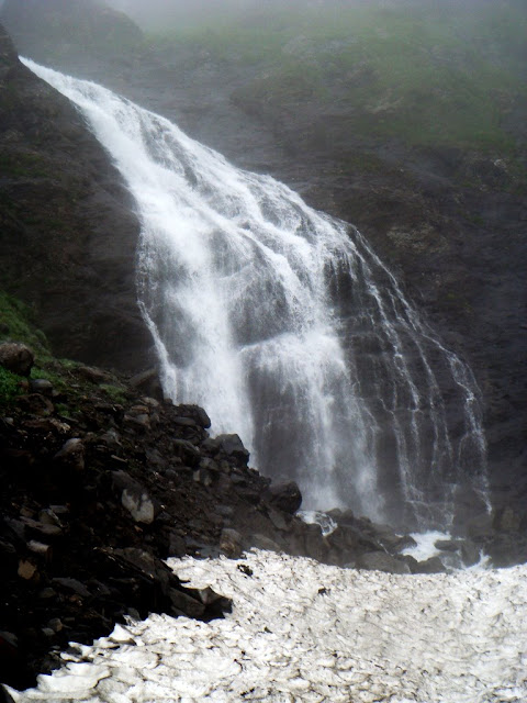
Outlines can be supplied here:
[[[245, 565], [248, 573], [238, 568]], [[153, 615], [16, 702], [527, 701], [527, 567], [390, 576], [262, 551], [170, 560], [233, 599], [209, 624]]]

